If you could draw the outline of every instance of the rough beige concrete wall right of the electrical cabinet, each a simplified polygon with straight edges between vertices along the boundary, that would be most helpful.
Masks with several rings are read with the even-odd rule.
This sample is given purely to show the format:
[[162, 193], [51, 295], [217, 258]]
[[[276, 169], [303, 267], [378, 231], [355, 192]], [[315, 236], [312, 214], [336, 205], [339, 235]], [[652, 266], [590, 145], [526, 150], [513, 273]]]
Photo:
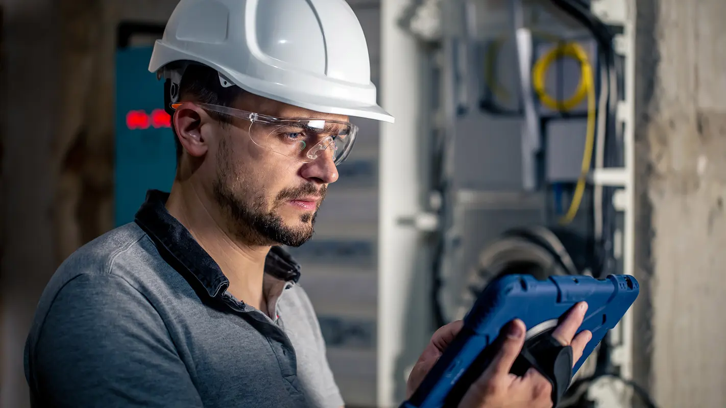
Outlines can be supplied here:
[[658, 407], [726, 407], [726, 2], [636, 3], [636, 262], [648, 282], [636, 377]]

